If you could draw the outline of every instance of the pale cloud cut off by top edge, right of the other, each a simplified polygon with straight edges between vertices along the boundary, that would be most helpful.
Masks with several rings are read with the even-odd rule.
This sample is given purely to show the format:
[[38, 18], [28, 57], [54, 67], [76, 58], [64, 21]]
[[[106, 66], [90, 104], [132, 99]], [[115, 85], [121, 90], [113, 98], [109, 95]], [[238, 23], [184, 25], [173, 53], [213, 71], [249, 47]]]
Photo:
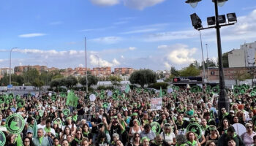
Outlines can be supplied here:
[[165, 0], [124, 0], [124, 5], [133, 9], [144, 9], [159, 4]]

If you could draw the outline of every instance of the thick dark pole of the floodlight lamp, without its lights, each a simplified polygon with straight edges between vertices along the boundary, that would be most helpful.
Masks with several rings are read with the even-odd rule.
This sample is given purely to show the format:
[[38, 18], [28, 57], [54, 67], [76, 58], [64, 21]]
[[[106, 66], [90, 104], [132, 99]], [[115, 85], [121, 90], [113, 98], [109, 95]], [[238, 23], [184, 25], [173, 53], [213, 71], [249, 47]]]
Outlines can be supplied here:
[[219, 21], [218, 21], [218, 4], [217, 0], [214, 0], [215, 6], [215, 20], [216, 20], [216, 34], [217, 34], [217, 46], [218, 46], [218, 58], [219, 58], [219, 99], [218, 99], [218, 109], [219, 115], [222, 116], [221, 109], [225, 107], [227, 112], [230, 110], [230, 103], [227, 99], [227, 93], [225, 91], [225, 80], [224, 80], [224, 72], [223, 72], [223, 64], [222, 64], [222, 42], [220, 39], [220, 31], [219, 31]]

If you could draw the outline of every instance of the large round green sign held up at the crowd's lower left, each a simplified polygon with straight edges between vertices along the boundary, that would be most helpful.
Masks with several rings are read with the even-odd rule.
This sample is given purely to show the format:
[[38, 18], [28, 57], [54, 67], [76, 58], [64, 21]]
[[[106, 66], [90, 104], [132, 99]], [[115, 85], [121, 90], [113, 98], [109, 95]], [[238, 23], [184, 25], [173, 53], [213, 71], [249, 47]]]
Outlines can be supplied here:
[[25, 126], [25, 121], [21, 115], [12, 114], [7, 117], [5, 126], [10, 134], [20, 134]]

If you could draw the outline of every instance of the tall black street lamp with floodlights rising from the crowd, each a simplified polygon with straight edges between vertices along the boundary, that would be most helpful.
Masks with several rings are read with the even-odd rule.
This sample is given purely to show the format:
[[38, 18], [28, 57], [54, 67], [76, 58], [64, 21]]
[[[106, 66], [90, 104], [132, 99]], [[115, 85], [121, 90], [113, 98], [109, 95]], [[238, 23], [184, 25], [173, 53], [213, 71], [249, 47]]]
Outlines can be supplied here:
[[[191, 3], [197, 4], [201, 0], [187, 0], [186, 3]], [[203, 30], [203, 29], [208, 29], [208, 28], [216, 28], [216, 34], [217, 34], [217, 47], [218, 47], [218, 58], [219, 58], [219, 99], [218, 99], [218, 109], [219, 109], [219, 115], [222, 115], [222, 112], [220, 109], [222, 107], [225, 107], [227, 112], [229, 112], [229, 101], [227, 99], [227, 93], [225, 91], [225, 80], [224, 80], [224, 74], [223, 74], [223, 64], [222, 64], [222, 45], [221, 45], [221, 39], [220, 39], [220, 31], [219, 28], [222, 26], [230, 26], [236, 23], [236, 15], [230, 15], [227, 14], [227, 19], [229, 20], [229, 23], [225, 23], [225, 15], [219, 16], [218, 12], [218, 5], [223, 6], [225, 1], [227, 0], [212, 0], [214, 2], [214, 7], [215, 7], [215, 20], [213, 17], [211, 19], [208, 19], [208, 25], [214, 25], [214, 26], [208, 26], [207, 28], [203, 28], [202, 26], [202, 21], [200, 18], [194, 13], [190, 15], [191, 20], [192, 20], [192, 25], [194, 26], [195, 29], [198, 31]], [[196, 5], [195, 5], [196, 6]], [[231, 13], [233, 14], [233, 13]], [[230, 23], [231, 22], [231, 23]], [[234, 22], [234, 23], [232, 23]], [[221, 24], [225, 23], [225, 24]]]

